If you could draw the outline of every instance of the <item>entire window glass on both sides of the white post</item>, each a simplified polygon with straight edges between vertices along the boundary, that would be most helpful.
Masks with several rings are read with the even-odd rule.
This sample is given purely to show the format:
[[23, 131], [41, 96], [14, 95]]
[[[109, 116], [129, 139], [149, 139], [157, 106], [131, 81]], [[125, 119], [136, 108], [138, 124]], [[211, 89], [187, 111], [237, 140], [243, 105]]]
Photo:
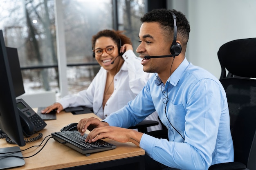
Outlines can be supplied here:
[[[68, 93], [73, 94], [86, 89], [99, 70], [92, 57], [92, 35], [114, 29], [117, 22], [136, 50], [144, 0], [62, 0], [62, 4]], [[54, 0], [1, 1], [0, 29], [6, 46], [18, 49], [26, 93], [54, 90], [58, 99], [55, 28]]]

